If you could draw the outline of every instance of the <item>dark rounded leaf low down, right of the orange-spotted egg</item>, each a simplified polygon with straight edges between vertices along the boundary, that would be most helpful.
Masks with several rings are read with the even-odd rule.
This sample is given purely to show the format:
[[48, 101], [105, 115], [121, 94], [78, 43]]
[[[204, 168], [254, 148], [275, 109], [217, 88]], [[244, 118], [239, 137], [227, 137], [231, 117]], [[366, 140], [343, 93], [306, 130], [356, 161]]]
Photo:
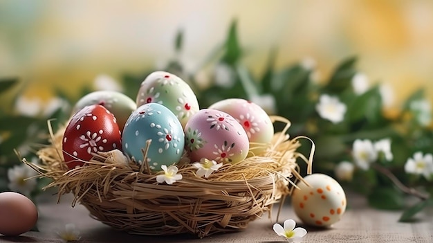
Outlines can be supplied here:
[[369, 205], [386, 210], [399, 210], [405, 206], [403, 195], [394, 188], [374, 188], [368, 196]]

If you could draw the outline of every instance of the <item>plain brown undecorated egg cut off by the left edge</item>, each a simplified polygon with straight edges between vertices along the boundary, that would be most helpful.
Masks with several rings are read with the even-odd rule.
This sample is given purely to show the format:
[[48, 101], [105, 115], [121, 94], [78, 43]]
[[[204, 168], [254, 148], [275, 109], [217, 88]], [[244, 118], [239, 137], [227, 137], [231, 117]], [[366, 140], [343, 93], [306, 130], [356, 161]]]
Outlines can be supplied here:
[[0, 193], [0, 234], [21, 235], [37, 222], [37, 208], [33, 201], [17, 192]]

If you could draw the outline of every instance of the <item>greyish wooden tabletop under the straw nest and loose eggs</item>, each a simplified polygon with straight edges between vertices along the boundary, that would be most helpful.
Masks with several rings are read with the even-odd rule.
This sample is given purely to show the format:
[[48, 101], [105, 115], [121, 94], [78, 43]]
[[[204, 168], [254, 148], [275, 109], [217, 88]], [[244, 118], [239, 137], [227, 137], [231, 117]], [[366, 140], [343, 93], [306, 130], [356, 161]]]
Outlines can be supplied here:
[[[114, 231], [109, 226], [89, 217], [84, 206], [77, 205], [71, 208], [70, 195], [62, 197], [60, 204], [55, 204], [56, 196], [47, 198], [38, 206], [39, 232], [32, 231], [17, 237], [0, 235], [0, 242], [62, 242], [55, 235], [55, 229], [64, 227], [68, 223], [75, 224], [80, 230], [82, 235], [80, 242], [284, 242], [282, 237], [274, 233], [272, 226], [275, 222], [268, 219], [268, 214], [251, 222], [246, 230], [237, 233], [210, 235], [203, 239], [198, 239], [194, 235], [147, 237]], [[348, 197], [347, 201], [349, 208], [340, 222], [328, 229], [304, 226], [308, 233], [302, 242], [433, 242], [432, 210], [420, 213], [414, 222], [399, 223], [400, 212], [398, 211], [368, 208], [365, 200], [356, 195]], [[273, 212], [273, 220], [276, 219], [276, 211]], [[284, 205], [279, 223], [284, 219], [295, 219], [299, 223], [289, 203]]]

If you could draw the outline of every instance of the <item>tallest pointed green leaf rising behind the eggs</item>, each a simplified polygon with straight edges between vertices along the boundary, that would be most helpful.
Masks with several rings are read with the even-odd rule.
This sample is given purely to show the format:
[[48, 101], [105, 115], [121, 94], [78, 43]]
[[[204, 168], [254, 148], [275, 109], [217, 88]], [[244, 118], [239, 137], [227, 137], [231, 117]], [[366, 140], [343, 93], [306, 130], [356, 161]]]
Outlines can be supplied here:
[[228, 37], [225, 41], [225, 55], [223, 62], [228, 64], [235, 64], [240, 60], [242, 55], [241, 45], [237, 36], [237, 21], [232, 21], [230, 29], [228, 30]]

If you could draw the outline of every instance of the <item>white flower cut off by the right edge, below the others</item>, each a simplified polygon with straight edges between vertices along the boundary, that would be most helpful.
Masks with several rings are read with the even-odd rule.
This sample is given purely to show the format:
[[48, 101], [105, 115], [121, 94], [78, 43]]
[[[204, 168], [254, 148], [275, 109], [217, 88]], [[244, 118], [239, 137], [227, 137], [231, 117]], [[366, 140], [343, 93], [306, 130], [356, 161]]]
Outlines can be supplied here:
[[413, 158], [407, 159], [405, 163], [405, 172], [409, 174], [423, 174], [426, 179], [430, 179], [433, 174], [433, 156], [416, 152]]

